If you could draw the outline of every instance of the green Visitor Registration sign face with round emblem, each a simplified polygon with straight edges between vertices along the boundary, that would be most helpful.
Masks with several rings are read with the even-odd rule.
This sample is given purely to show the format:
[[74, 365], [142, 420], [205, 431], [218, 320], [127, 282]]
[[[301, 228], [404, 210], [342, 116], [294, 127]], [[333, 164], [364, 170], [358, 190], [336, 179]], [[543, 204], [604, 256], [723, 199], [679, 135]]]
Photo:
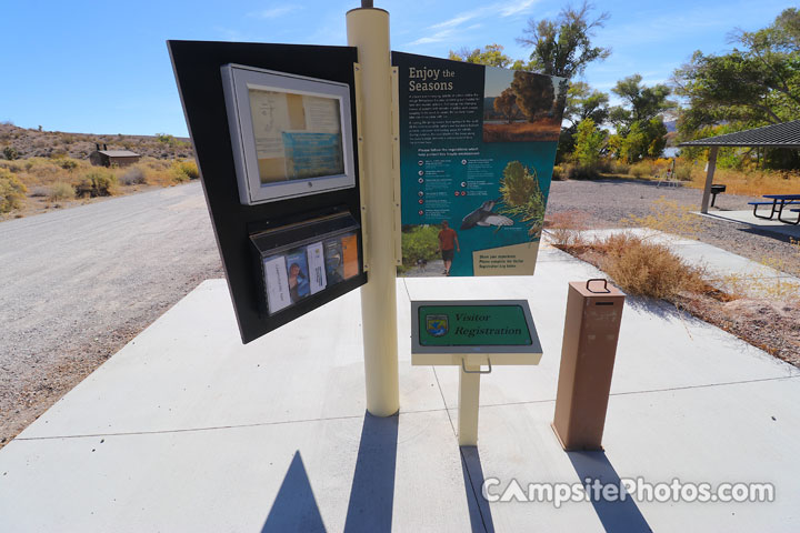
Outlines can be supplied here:
[[421, 305], [422, 346], [522, 346], [531, 344], [521, 305]]

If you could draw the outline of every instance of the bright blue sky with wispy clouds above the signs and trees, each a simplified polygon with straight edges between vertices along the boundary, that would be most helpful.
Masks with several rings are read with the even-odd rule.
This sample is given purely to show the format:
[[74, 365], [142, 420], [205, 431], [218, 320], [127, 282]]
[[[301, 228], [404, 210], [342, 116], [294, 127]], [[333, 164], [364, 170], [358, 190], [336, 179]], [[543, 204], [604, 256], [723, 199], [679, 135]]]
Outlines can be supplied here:
[[[0, 121], [86, 133], [186, 135], [168, 39], [346, 44], [344, 13], [359, 0], [228, 0], [133, 3], [11, 1], [2, 7]], [[556, 17], [562, 0], [376, 0], [391, 16], [393, 50], [447, 57], [489, 43], [513, 58], [527, 20]], [[577, 2], [574, 2], [577, 3]], [[663, 82], [694, 50], [724, 52], [734, 28], [769, 24], [791, 3], [776, 0], [608, 1], [596, 42], [611, 57], [583, 79], [608, 91], [640, 73]]]

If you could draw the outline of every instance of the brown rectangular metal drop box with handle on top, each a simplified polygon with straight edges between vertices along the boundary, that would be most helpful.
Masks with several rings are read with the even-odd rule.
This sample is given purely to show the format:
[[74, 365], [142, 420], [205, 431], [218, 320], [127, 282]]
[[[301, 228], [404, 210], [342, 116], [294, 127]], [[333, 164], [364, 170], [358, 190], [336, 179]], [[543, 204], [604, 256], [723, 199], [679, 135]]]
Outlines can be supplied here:
[[569, 283], [552, 423], [564, 450], [602, 450], [623, 304], [606, 280]]

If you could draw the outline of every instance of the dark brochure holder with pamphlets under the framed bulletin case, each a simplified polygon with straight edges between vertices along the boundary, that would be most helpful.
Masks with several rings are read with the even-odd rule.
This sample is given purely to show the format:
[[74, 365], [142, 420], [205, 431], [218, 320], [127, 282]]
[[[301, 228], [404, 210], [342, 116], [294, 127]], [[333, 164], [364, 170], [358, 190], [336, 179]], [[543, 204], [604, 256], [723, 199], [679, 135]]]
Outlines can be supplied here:
[[360, 239], [361, 228], [349, 213], [250, 234], [260, 271], [261, 311], [276, 315], [361, 274]]

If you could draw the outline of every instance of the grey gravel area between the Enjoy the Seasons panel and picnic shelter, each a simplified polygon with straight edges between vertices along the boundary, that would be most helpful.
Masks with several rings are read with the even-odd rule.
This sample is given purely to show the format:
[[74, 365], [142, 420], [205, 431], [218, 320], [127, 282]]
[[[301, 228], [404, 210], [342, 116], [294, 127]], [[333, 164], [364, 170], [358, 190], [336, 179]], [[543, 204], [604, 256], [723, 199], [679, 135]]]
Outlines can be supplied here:
[[[699, 211], [702, 191], [683, 187], [657, 187], [656, 182], [641, 180], [553, 181], [547, 213], [552, 215], [578, 211], [588, 215], [586, 225], [590, 229], [622, 228], [624, 224], [620, 222], [621, 219], [630, 214], [649, 214], [650, 207], [660, 197]], [[716, 205], [726, 211], [750, 210], [747, 202], [753, 200], [758, 199], [723, 193], [717, 197]], [[753, 261], [778, 259], [781, 262], [779, 270], [800, 276], [799, 249], [786, 237], [759, 233], [748, 224], [701, 217], [697, 238]]]

